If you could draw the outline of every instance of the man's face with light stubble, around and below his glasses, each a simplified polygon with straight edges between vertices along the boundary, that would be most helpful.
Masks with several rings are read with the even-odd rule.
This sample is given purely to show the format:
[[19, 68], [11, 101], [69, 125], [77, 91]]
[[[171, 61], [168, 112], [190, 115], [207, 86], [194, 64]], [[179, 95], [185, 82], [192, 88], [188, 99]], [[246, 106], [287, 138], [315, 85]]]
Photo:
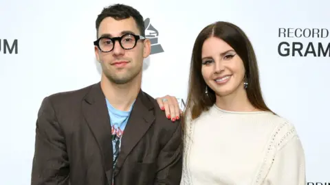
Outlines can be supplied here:
[[[102, 36], [120, 37], [129, 32], [135, 35], [141, 34], [132, 17], [120, 21], [107, 17], [100, 23], [98, 38]], [[133, 37], [125, 38], [124, 42], [131, 42], [130, 39]], [[122, 42], [123, 46], [124, 42]], [[109, 43], [111, 42], [108, 40], [104, 45], [110, 45]], [[114, 45], [113, 50], [107, 53], [95, 47], [96, 58], [102, 66], [102, 75], [115, 84], [131, 82], [142, 73], [143, 60], [149, 56], [151, 51], [150, 41], [148, 39], [137, 40], [133, 49], [123, 49], [118, 41], [111, 45]]]

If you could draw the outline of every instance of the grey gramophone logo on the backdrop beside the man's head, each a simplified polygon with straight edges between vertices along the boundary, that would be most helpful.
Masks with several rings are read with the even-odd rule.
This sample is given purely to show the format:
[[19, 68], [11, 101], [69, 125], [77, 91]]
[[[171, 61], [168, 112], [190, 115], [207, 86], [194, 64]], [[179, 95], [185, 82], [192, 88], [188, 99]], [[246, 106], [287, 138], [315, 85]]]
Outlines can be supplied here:
[[159, 33], [157, 29], [155, 29], [155, 27], [151, 25], [150, 18], [146, 18], [146, 20], [144, 20], [144, 27], [146, 28], [146, 30], [144, 30], [144, 32], [146, 33], [146, 38], [148, 38], [151, 42], [150, 54], [153, 55], [164, 52], [162, 45], [158, 43]]

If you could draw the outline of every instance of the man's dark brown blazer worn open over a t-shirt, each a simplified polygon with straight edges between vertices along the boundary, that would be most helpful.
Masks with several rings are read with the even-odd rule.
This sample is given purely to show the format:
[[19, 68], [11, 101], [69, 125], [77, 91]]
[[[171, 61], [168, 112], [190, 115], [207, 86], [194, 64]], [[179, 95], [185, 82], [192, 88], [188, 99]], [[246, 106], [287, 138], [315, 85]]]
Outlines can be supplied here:
[[100, 83], [45, 97], [36, 121], [32, 185], [179, 184], [181, 124], [140, 90], [113, 169], [111, 125]]

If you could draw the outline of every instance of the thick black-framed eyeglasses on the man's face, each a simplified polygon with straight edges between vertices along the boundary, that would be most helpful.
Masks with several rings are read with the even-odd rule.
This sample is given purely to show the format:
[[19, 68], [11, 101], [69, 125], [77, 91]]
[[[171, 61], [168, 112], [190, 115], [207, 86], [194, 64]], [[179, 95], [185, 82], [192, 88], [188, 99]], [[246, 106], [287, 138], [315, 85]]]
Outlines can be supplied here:
[[135, 34], [124, 34], [120, 37], [110, 38], [102, 36], [94, 41], [94, 45], [103, 52], [110, 52], [115, 47], [115, 40], [118, 40], [122, 49], [133, 49], [136, 46], [137, 40], [145, 39], [144, 36], [137, 36]]

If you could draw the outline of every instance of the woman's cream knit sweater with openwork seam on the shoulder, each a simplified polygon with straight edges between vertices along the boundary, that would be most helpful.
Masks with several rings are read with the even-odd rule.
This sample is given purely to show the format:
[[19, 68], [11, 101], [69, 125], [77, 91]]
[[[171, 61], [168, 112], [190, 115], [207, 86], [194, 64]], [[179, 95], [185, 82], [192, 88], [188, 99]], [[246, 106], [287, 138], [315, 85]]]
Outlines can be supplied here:
[[189, 120], [181, 185], [305, 185], [303, 147], [280, 116], [212, 106]]

